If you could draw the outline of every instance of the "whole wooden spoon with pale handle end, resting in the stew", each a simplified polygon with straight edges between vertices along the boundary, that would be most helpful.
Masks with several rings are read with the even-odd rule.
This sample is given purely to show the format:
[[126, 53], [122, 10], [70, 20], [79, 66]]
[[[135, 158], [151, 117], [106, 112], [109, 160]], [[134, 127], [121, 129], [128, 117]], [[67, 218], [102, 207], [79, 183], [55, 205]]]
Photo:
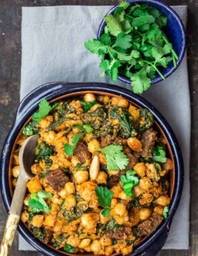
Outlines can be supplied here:
[[39, 135], [28, 137], [19, 150], [19, 177], [17, 179], [17, 185], [13, 193], [7, 222], [3, 232], [0, 256], [7, 256], [11, 251], [11, 245], [21, 216], [23, 199], [26, 195], [26, 183], [32, 177], [30, 167], [35, 158], [35, 148], [38, 137]]

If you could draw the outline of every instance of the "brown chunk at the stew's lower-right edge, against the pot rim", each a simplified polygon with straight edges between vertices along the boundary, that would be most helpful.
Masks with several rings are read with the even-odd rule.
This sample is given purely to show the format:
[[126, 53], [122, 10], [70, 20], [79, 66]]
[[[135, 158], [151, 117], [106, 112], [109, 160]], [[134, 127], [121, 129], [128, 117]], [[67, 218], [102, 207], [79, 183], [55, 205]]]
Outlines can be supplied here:
[[144, 222], [141, 222], [138, 224], [137, 227], [137, 235], [138, 236], [148, 236], [156, 228], [160, 225], [162, 222], [163, 217], [159, 214], [152, 214], [152, 216], [148, 220], [144, 220]]

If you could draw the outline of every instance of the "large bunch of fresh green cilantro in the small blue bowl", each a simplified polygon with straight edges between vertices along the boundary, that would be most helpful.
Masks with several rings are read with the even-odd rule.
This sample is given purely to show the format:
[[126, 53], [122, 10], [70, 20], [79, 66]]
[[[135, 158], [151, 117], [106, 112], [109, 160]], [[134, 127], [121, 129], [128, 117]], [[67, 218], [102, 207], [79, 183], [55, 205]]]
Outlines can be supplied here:
[[124, 75], [131, 80], [132, 91], [142, 94], [156, 75], [165, 79], [161, 68], [171, 61], [177, 66], [179, 58], [163, 32], [167, 18], [155, 7], [122, 1], [104, 19], [106, 26], [99, 40], [85, 42], [85, 47], [102, 60], [101, 76], [109, 75], [116, 81], [118, 75]]

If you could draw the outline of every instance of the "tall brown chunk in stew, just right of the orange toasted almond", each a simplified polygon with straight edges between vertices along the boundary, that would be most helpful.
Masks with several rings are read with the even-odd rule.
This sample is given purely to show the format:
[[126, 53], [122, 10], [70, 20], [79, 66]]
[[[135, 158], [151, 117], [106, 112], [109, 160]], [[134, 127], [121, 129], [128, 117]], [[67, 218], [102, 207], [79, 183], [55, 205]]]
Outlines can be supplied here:
[[142, 151], [140, 152], [140, 155], [143, 158], [152, 158], [152, 151], [154, 147], [154, 142], [157, 139], [157, 132], [153, 129], [148, 129], [145, 131], [142, 135]]

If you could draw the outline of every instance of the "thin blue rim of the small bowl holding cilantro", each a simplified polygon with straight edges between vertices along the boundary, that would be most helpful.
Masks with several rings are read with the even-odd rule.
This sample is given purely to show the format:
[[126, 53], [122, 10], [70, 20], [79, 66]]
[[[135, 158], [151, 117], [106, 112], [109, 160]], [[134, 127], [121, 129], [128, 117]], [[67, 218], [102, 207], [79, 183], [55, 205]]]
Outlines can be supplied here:
[[[174, 67], [173, 65], [171, 66], [170, 70], [168, 70], [168, 72], [163, 73], [165, 79], [170, 76], [181, 64], [181, 62], [183, 61], [183, 57], [185, 55], [185, 51], [186, 51], [186, 47], [187, 47], [187, 34], [185, 32], [185, 26], [183, 24], [183, 21], [181, 20], [181, 18], [179, 17], [179, 15], [177, 14], [177, 12], [172, 9], [172, 7], [170, 7], [170, 5], [167, 5], [166, 3], [160, 1], [160, 0], [125, 0], [131, 4], [135, 4], [135, 3], [148, 3], [148, 4], [153, 4], [153, 5], [158, 5], [160, 7], [162, 7], [163, 9], [165, 9], [166, 11], [168, 11], [169, 13], [171, 13], [172, 17], [177, 21], [177, 24], [179, 25], [179, 29], [181, 32], [181, 52], [179, 53], [179, 59], [177, 61], [177, 67]], [[115, 9], [117, 9], [119, 4], [111, 7], [109, 9], [109, 11], [107, 11], [107, 13], [105, 14], [105, 16], [113, 13], [115, 11]], [[99, 38], [101, 37], [101, 34], [103, 33], [103, 28], [105, 27], [105, 20], [103, 19], [101, 21], [101, 24], [99, 25], [99, 28], [97, 30], [97, 40], [99, 40]], [[164, 69], [165, 70], [165, 69]], [[126, 84], [131, 84], [130, 78], [125, 77], [124, 75], [117, 75], [117, 78], [121, 81], [121, 82], [125, 82]], [[163, 81], [162, 77], [160, 77], [160, 75], [156, 75], [156, 77], [151, 79], [151, 84], [156, 84], [158, 82]]]

